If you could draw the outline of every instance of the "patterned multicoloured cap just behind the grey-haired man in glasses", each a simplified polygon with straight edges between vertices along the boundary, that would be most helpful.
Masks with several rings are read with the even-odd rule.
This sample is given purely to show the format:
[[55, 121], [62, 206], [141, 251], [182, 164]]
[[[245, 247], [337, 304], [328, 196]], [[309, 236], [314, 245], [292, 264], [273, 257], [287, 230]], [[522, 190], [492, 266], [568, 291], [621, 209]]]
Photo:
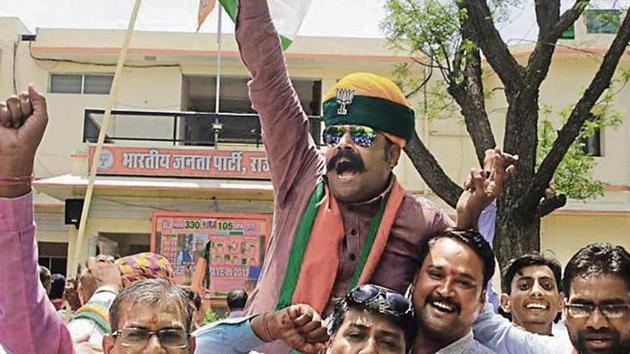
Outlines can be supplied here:
[[120, 269], [123, 287], [142, 279], [165, 279], [170, 283], [175, 280], [171, 263], [164, 256], [143, 252], [116, 260]]

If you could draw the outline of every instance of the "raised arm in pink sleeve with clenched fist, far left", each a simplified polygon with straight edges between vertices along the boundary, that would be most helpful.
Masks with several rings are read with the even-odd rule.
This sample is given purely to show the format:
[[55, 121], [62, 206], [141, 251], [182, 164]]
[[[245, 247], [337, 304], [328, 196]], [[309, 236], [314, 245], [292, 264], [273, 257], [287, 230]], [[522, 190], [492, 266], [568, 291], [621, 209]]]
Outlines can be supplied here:
[[37, 266], [30, 176], [47, 121], [33, 87], [0, 103], [0, 342], [10, 353], [72, 353]]

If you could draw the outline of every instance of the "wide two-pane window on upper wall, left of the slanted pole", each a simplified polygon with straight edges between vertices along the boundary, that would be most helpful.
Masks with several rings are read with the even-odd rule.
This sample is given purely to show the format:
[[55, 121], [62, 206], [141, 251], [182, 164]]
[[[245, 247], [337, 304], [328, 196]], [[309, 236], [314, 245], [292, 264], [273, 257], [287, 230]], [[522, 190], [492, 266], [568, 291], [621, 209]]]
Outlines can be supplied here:
[[109, 94], [114, 76], [110, 74], [51, 74], [52, 93]]

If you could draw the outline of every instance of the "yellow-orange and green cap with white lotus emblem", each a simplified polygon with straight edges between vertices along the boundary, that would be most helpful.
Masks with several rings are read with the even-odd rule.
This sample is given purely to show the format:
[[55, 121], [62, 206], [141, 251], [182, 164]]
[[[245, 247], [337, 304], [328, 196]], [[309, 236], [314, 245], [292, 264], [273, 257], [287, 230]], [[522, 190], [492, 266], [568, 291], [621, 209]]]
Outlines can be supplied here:
[[398, 85], [369, 73], [347, 75], [324, 95], [324, 123], [366, 125], [404, 146], [415, 131], [415, 114]]

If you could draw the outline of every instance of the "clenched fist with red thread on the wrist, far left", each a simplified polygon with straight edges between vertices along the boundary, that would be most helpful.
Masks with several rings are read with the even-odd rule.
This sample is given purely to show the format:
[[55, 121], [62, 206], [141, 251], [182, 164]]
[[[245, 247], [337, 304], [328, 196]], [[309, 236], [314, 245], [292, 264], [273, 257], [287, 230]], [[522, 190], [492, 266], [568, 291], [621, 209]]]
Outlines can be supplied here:
[[[30, 192], [30, 177], [37, 147], [48, 123], [46, 99], [34, 86], [19, 96], [0, 102], [0, 198], [15, 198]], [[11, 177], [25, 183], [7, 182]]]

